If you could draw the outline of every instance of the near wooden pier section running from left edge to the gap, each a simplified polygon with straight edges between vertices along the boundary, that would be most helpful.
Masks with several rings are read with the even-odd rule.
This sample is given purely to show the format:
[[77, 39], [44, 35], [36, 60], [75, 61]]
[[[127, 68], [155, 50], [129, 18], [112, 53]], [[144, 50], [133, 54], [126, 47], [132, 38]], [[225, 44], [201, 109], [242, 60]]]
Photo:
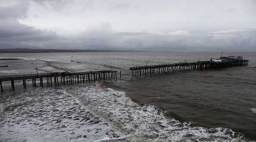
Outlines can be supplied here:
[[[14, 81], [23, 81], [23, 88], [27, 88], [27, 80], [32, 80], [32, 86], [73, 85], [74, 83], [95, 82], [96, 80], [117, 79], [117, 71], [101, 70], [96, 72], [54, 72], [30, 75], [0, 76], [1, 92], [4, 91], [2, 82], [11, 82], [11, 89], [15, 89]], [[40, 83], [39, 85], [37, 83]]]

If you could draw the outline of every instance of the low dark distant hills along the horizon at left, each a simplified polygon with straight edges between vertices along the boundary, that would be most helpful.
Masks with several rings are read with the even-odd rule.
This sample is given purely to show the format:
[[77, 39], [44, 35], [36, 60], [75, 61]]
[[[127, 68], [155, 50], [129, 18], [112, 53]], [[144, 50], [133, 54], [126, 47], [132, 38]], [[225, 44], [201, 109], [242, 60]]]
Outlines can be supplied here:
[[64, 53], [64, 52], [114, 52], [135, 50], [79, 50], [79, 49], [0, 49], [0, 53]]

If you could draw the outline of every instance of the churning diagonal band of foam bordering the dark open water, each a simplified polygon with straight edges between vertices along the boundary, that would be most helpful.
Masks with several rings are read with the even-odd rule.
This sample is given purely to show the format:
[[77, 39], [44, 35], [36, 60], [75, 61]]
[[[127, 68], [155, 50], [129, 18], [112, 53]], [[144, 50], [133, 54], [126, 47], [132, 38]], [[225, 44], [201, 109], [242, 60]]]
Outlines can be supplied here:
[[129, 141], [247, 141], [243, 134], [228, 128], [192, 127], [179, 122], [156, 106], [135, 104], [121, 91], [87, 86], [68, 92]]

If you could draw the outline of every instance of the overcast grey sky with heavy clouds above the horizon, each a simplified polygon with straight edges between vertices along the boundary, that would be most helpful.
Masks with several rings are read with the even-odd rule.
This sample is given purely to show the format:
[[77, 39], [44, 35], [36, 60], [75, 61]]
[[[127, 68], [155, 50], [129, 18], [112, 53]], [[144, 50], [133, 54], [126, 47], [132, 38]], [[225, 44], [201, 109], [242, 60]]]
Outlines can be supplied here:
[[256, 0], [0, 0], [0, 49], [255, 51]]

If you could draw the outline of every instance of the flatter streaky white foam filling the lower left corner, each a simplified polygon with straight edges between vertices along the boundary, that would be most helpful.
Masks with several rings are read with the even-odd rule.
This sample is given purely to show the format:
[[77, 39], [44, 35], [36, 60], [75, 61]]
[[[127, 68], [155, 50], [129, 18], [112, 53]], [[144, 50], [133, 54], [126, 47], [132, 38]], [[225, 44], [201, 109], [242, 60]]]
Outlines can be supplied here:
[[96, 141], [120, 137], [107, 122], [61, 88], [33, 89], [5, 101], [5, 105], [0, 113], [0, 141]]

